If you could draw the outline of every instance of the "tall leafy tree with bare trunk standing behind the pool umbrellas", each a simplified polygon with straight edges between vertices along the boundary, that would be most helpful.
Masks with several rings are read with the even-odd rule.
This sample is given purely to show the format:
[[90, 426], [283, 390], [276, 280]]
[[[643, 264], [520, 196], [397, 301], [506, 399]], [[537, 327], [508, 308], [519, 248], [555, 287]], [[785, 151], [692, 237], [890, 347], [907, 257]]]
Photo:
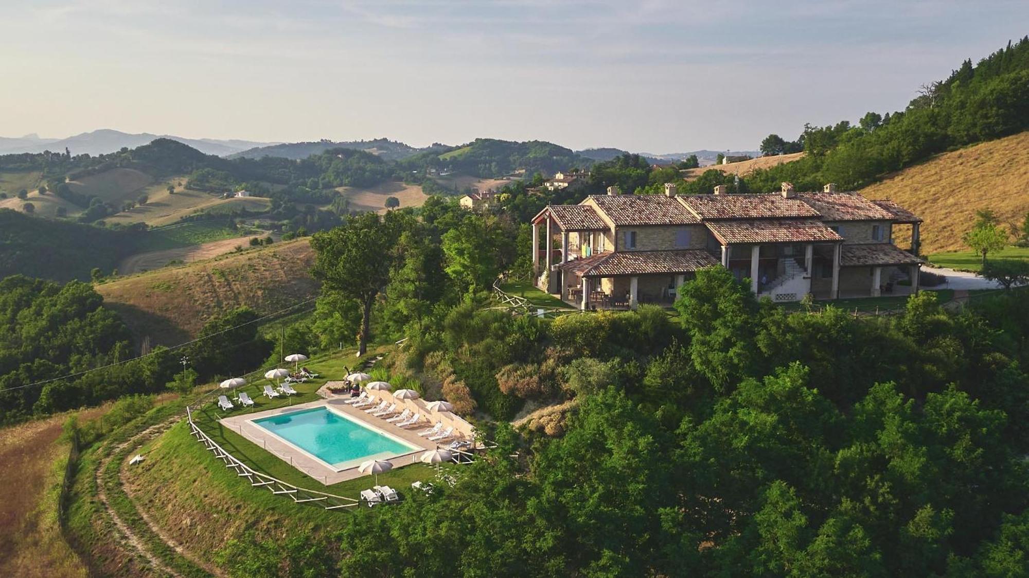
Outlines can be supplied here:
[[322, 282], [322, 294], [339, 293], [361, 308], [357, 355], [367, 351], [371, 308], [389, 283], [397, 240], [392, 224], [389, 215], [383, 219], [376, 213], [364, 213], [311, 239], [315, 250], [312, 273]]

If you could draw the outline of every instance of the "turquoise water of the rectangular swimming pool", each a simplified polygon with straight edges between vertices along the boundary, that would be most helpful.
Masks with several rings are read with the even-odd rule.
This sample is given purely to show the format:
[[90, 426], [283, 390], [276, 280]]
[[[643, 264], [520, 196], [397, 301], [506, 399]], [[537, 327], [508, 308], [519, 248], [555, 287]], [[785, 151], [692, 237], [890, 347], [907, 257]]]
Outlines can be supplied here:
[[419, 449], [325, 407], [261, 418], [254, 424], [340, 469]]

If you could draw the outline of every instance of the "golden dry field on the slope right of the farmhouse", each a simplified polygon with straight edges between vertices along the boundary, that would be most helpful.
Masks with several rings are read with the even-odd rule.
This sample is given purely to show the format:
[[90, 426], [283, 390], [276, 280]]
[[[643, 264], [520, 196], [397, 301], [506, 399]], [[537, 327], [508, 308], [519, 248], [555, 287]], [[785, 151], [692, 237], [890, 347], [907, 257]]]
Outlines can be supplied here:
[[[867, 186], [868, 198], [891, 198], [925, 219], [922, 253], [964, 249], [961, 236], [975, 211], [992, 209], [1002, 223], [1021, 225], [1029, 212], [1029, 132], [938, 154]], [[898, 227], [898, 245], [910, 241]]]

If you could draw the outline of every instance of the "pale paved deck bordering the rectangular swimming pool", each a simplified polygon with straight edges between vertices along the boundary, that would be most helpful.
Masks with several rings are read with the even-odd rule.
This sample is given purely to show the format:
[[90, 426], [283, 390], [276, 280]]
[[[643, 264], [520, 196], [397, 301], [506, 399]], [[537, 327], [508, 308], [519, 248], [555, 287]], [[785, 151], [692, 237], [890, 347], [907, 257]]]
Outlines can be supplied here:
[[233, 416], [230, 418], [223, 418], [219, 420], [219, 422], [225, 428], [242, 435], [260, 447], [263, 447], [280, 460], [289, 463], [294, 468], [321, 481], [325, 485], [347, 481], [349, 479], [366, 476], [368, 474], [357, 471], [357, 466], [335, 471], [333, 468], [326, 466], [320, 460], [317, 460], [296, 446], [287, 443], [285, 440], [264, 428], [253, 424], [253, 421], [260, 420], [261, 418], [270, 418], [272, 416], [281, 416], [298, 409], [331, 407], [334, 411], [349, 416], [363, 424], [367, 424], [374, 429], [387, 432], [420, 448], [417, 451], [411, 451], [409, 454], [403, 454], [387, 460], [387, 462], [393, 464], [394, 468], [418, 463], [419, 456], [421, 456], [424, 451], [438, 447], [438, 444], [435, 442], [429, 441], [417, 434], [417, 432], [424, 430], [425, 427], [413, 428], [411, 430], [398, 428], [393, 424], [386, 423], [386, 420], [382, 418], [374, 418], [361, 409], [354, 409], [350, 405], [343, 403], [344, 399], [346, 398], [320, 399], [308, 403], [297, 403], [296, 405], [269, 409], [267, 411], [254, 411], [253, 413], [243, 413]]

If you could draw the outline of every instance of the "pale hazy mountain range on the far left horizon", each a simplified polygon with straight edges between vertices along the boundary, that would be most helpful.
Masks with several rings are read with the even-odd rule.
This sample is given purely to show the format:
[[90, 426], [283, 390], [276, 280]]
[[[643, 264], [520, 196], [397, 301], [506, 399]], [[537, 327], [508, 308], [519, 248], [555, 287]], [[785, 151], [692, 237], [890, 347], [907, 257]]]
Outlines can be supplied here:
[[96, 155], [114, 152], [120, 150], [122, 147], [136, 148], [149, 144], [154, 139], [159, 138], [178, 141], [206, 154], [217, 154], [218, 156], [225, 156], [257, 146], [277, 144], [241, 140], [186, 139], [172, 135], [153, 135], [150, 133], [133, 135], [122, 133], [121, 131], [101, 129], [66, 139], [44, 139], [35, 134], [19, 138], [0, 137], [0, 154], [42, 152], [44, 150], [64, 152], [64, 149], [67, 147], [72, 154], [87, 153]]

